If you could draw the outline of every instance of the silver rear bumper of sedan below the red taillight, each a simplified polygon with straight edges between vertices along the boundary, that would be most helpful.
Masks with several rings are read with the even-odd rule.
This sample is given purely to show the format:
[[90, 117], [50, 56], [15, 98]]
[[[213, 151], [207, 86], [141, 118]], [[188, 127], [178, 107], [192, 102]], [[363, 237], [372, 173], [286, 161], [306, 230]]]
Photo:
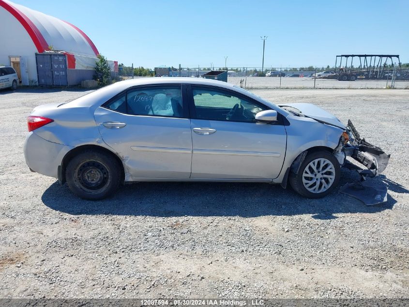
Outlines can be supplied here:
[[58, 167], [71, 146], [49, 142], [34, 132], [24, 142], [24, 157], [31, 171], [58, 178]]

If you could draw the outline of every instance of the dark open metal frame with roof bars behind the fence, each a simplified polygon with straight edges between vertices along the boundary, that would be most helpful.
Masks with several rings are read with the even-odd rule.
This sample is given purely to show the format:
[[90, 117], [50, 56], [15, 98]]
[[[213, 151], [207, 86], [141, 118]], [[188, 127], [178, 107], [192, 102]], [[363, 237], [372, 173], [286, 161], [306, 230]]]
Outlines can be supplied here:
[[[337, 66], [339, 58], [339, 66]], [[343, 60], [345, 58], [345, 64]], [[348, 59], [351, 58], [348, 64]], [[353, 67], [354, 58], [359, 58], [359, 66]], [[401, 67], [398, 54], [342, 54], [335, 58], [335, 69], [340, 81], [355, 81], [356, 79], [378, 80], [383, 79], [385, 74], [385, 65], [388, 59], [391, 60], [394, 67], [394, 58], [397, 59]], [[383, 62], [383, 60], [385, 62]], [[356, 62], [357, 63], [357, 62]], [[369, 63], [369, 64], [368, 64]], [[349, 65], [349, 66], [348, 66]]]

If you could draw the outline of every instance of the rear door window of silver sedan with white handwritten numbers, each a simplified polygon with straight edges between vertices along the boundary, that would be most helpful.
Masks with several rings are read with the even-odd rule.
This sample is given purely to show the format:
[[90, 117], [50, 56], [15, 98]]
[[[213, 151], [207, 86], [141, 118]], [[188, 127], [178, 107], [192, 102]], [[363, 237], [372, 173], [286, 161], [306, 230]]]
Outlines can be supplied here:
[[104, 105], [130, 115], [183, 117], [180, 86], [154, 86], [130, 89]]

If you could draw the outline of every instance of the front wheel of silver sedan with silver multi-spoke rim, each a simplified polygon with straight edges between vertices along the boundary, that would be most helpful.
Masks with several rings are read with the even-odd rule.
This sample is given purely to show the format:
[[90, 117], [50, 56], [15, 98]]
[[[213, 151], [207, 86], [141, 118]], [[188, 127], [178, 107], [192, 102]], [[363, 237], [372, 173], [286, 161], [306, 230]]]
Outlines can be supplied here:
[[308, 198], [320, 198], [336, 188], [341, 167], [336, 158], [327, 151], [307, 155], [298, 174], [289, 174], [289, 183], [298, 194]]

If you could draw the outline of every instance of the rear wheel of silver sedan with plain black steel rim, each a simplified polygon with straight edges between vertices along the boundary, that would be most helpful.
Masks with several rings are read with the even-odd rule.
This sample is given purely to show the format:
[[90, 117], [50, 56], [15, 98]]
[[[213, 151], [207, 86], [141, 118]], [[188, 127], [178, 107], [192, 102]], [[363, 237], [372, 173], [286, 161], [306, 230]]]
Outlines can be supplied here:
[[68, 162], [65, 178], [72, 193], [84, 199], [98, 200], [118, 190], [121, 167], [108, 153], [86, 150]]

